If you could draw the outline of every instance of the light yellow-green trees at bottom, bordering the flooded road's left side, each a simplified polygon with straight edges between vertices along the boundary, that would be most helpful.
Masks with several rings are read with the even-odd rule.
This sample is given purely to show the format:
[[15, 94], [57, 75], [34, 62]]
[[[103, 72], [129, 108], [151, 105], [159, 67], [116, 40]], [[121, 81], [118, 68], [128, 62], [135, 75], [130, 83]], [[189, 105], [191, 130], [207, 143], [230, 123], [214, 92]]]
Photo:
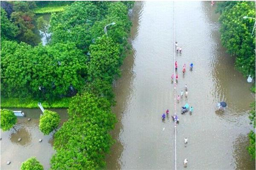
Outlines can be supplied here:
[[69, 120], [55, 133], [53, 170], [91, 170], [105, 167], [105, 153], [113, 139], [108, 134], [116, 122], [111, 104], [105, 98], [84, 93], [73, 98]]

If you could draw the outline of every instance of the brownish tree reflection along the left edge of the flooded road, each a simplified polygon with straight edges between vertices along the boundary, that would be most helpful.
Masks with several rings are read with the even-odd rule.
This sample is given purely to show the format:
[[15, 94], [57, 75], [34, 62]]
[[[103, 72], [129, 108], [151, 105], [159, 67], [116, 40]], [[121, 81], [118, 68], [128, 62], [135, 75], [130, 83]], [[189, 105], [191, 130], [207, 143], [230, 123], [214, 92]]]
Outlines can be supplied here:
[[[130, 42], [133, 44], [136, 42], [137, 39], [137, 32], [139, 29], [139, 23], [140, 23], [140, 16], [141, 13], [143, 12], [144, 2], [137, 2], [134, 5], [133, 8], [133, 13], [131, 14], [131, 20], [133, 21], [133, 26], [131, 28], [131, 38]], [[122, 157], [122, 151], [125, 146], [125, 143], [123, 143], [120, 140], [120, 133], [122, 133], [122, 119], [124, 116], [127, 116], [129, 113], [129, 106], [131, 96], [133, 96], [134, 88], [133, 88], [133, 79], [135, 78], [134, 74], [134, 54], [136, 54], [136, 51], [133, 47], [131, 46], [131, 54], [128, 54], [128, 56], [124, 60], [124, 65], [121, 66], [121, 71], [122, 71], [122, 79], [118, 79], [116, 83], [114, 84], [114, 93], [115, 94], [126, 94], [126, 95], [116, 95], [116, 101], [117, 104], [113, 108], [113, 113], [116, 113], [116, 118], [118, 122], [115, 125], [115, 129], [112, 131], [111, 135], [113, 136], [114, 139], [116, 139], [115, 144], [113, 147], [111, 147], [111, 152], [107, 156], [106, 161], [108, 162], [107, 164], [107, 169], [111, 170], [117, 170], [121, 169], [121, 164], [122, 162], [119, 162], [121, 160], [120, 158]], [[122, 101], [121, 103], [119, 101]], [[116, 159], [118, 158], [118, 159]]]

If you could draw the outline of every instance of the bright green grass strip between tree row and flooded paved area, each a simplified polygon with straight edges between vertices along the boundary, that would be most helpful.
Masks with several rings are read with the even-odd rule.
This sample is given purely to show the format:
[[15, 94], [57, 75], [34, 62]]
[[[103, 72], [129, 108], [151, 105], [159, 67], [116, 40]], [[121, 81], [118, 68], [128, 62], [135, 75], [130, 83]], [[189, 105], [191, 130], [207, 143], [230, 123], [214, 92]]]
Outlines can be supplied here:
[[[71, 97], [64, 97], [60, 100], [41, 102], [44, 108], [68, 108]], [[38, 108], [38, 100], [20, 99], [20, 98], [3, 98], [1, 97], [1, 108]]]

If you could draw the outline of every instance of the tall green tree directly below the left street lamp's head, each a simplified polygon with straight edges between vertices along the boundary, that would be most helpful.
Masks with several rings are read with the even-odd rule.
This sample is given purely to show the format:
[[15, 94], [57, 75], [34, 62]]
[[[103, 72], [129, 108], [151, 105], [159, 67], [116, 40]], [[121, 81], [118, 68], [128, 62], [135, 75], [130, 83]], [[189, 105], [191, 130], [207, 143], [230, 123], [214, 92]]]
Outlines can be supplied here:
[[120, 76], [119, 66], [122, 63], [120, 57], [120, 45], [104, 35], [91, 44], [90, 61], [87, 64], [88, 82], [86, 90], [93, 91], [98, 96], [104, 96], [114, 103], [112, 82], [116, 76]]

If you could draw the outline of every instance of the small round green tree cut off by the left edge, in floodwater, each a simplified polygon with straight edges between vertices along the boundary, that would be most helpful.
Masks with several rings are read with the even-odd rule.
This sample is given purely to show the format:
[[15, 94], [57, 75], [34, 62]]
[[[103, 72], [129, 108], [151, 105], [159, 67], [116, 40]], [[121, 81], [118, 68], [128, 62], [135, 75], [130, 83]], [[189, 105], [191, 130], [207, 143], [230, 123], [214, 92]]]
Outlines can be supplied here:
[[17, 117], [15, 116], [13, 111], [10, 111], [7, 109], [1, 109], [0, 118], [1, 118], [0, 126], [3, 131], [10, 130], [11, 128], [17, 131], [14, 127], [14, 125], [17, 122]]

